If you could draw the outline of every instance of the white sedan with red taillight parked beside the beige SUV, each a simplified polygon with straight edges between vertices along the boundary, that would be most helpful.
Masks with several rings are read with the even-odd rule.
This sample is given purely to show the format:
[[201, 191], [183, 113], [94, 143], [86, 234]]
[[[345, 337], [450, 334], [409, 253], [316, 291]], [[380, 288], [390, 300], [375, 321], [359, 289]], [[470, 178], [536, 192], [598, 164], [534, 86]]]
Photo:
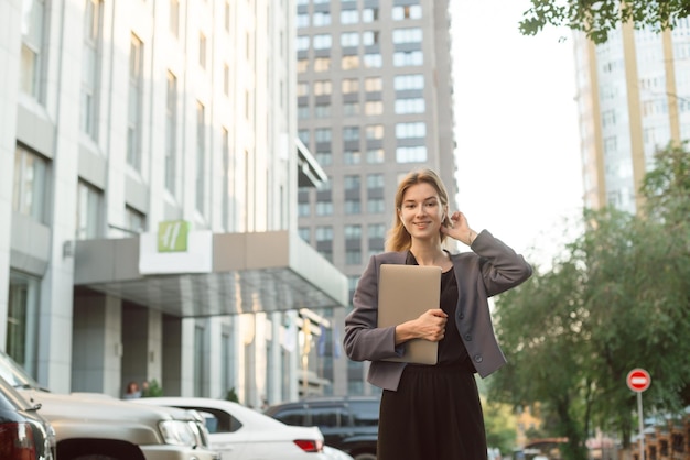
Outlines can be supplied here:
[[208, 397], [147, 397], [132, 404], [193, 409], [206, 419], [211, 447], [223, 460], [335, 460], [323, 451], [323, 435], [315, 427], [291, 427], [255, 409]]

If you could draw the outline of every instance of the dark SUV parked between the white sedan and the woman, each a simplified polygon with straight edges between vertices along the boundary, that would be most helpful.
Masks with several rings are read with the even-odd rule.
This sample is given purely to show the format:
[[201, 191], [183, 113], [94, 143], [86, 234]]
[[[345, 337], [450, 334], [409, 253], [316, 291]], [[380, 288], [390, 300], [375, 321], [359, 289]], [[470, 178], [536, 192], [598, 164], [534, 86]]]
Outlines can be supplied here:
[[376, 460], [379, 405], [376, 396], [312, 397], [272, 405], [265, 414], [287, 425], [316, 426], [326, 446], [355, 460]]

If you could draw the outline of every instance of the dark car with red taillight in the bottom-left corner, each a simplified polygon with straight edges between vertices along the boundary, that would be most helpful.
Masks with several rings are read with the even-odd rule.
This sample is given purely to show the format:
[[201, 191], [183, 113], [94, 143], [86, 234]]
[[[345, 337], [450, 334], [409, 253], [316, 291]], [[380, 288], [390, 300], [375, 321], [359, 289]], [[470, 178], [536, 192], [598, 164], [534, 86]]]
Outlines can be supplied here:
[[55, 430], [40, 409], [0, 377], [0, 459], [55, 460]]

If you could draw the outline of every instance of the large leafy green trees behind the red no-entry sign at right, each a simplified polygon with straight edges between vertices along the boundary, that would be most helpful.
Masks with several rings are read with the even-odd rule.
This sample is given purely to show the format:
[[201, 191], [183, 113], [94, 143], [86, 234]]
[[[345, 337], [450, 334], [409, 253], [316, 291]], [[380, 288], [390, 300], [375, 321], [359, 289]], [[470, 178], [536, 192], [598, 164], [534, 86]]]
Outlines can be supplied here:
[[489, 397], [541, 403], [564, 459], [584, 459], [592, 428], [634, 429], [636, 397], [625, 379], [644, 368], [648, 410], [678, 413], [690, 395], [690, 153], [656, 155], [640, 216], [584, 212], [585, 231], [553, 269], [496, 302], [496, 333], [509, 364]]

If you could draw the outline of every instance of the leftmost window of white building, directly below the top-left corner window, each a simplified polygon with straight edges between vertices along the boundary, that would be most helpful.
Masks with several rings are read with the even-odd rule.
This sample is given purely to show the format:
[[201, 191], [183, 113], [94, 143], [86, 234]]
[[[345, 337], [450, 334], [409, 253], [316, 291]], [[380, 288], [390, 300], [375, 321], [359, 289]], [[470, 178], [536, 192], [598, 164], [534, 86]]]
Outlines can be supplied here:
[[12, 210], [39, 222], [45, 220], [47, 164], [43, 156], [20, 145], [14, 151]]

